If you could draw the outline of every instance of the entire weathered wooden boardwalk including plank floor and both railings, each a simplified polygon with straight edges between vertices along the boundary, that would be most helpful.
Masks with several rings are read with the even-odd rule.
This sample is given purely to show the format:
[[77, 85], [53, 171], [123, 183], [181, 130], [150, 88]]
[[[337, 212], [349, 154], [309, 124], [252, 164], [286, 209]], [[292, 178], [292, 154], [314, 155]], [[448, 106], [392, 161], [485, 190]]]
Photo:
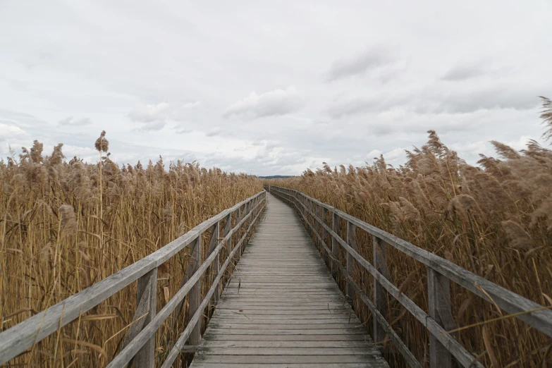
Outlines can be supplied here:
[[[403, 341], [404, 331], [395, 331], [386, 318], [393, 312], [386, 310], [386, 298], [400, 302], [429, 333], [422, 361], [429, 358], [431, 368], [453, 367], [453, 364], [484, 367], [478, 357], [447, 332], [458, 327], [451, 309], [450, 283], [505, 313], [514, 314], [534, 332], [552, 337], [552, 311], [547, 307], [305, 193], [274, 186], [267, 189], [274, 195], [262, 190], [224, 209], [147, 257], [1, 332], [0, 365], [11, 362], [15, 367], [44, 360], [48, 345], [39, 350], [35, 348], [38, 342], [51, 337], [61, 327], [80, 321], [86, 312], [134, 285], [137, 302], [132, 324], [121, 350], [109, 357], [107, 368], [128, 367], [131, 361], [136, 367], [154, 368], [156, 363], [157, 366], [161, 363], [162, 368], [169, 368], [183, 352], [190, 350], [196, 352], [192, 361], [194, 368], [388, 368], [367, 336], [366, 326], [361, 326], [345, 302], [317, 246], [331, 257], [331, 269], [347, 281], [348, 294], [355, 295], [372, 313], [369, 323], [376, 341], [391, 341], [410, 367], [423, 365]], [[262, 216], [265, 219], [259, 222]], [[309, 228], [308, 232], [304, 226]], [[372, 242], [362, 240], [362, 244], [357, 244], [357, 232], [367, 234]], [[252, 238], [247, 243], [249, 235]], [[316, 247], [311, 235], [317, 241]], [[207, 242], [203, 243], [204, 240]], [[245, 245], [245, 253], [240, 258]], [[361, 246], [364, 252], [367, 247], [373, 248], [372, 262], [362, 256]], [[427, 274], [417, 275], [427, 278], [426, 307], [417, 305], [393, 283], [386, 261], [389, 247], [427, 267]], [[225, 248], [227, 252], [222, 252]], [[185, 270], [187, 276], [178, 292], [159, 309], [158, 268], [183, 251], [192, 254]], [[340, 257], [343, 251], [345, 257]], [[228, 266], [235, 259], [240, 261], [219, 298], [223, 276], [232, 271], [233, 267]], [[212, 272], [210, 278], [204, 277], [208, 269]], [[352, 270], [371, 276], [372, 290], [359, 286], [355, 274], [350, 273]], [[202, 285], [205, 281], [208, 288]], [[185, 308], [188, 324], [184, 331], [177, 341], [156, 346], [159, 327], [173, 312], [180, 310], [183, 302], [188, 304]], [[214, 317], [202, 336], [201, 319], [212, 303], [216, 304]], [[50, 343], [58, 340], [51, 339]], [[168, 352], [161, 357], [162, 362], [159, 362], [159, 348]], [[55, 352], [56, 348], [51, 350]], [[89, 357], [84, 359], [87, 361]], [[77, 360], [73, 363], [75, 367], [90, 366]]]

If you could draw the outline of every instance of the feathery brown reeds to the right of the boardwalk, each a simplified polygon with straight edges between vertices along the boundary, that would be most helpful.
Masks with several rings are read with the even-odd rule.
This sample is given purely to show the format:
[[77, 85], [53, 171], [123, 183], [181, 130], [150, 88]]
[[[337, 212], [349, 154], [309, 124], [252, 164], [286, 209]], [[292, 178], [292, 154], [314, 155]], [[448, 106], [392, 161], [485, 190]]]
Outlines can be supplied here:
[[[552, 102], [543, 98], [543, 107], [543, 138], [550, 140]], [[498, 158], [481, 155], [479, 166], [472, 166], [433, 130], [428, 133], [428, 142], [407, 152], [408, 161], [399, 168], [381, 156], [372, 165], [324, 164], [300, 177], [265, 183], [305, 192], [525, 298], [552, 306], [552, 151], [535, 141], [520, 152], [493, 141]], [[358, 236], [360, 252], [371, 261], [372, 240]], [[387, 249], [393, 283], [427, 310], [426, 267]], [[357, 271], [355, 279], [371, 295], [372, 278]], [[459, 327], [505, 315], [454, 284], [451, 298]], [[362, 302], [356, 300], [355, 305], [368, 321]], [[386, 318], [419, 361], [428, 365], [429, 336], [423, 326], [394, 300], [388, 300]], [[456, 336], [489, 367], [552, 367], [552, 339], [514, 318], [474, 326]], [[402, 366], [397, 351], [384, 345], [391, 362]]]

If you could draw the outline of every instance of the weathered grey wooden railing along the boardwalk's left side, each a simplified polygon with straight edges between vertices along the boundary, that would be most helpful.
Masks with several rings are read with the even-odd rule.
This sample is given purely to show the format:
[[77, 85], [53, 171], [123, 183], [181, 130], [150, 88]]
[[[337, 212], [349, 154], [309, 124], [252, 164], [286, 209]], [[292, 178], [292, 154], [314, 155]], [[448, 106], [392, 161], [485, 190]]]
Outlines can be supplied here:
[[[70, 296], [66, 300], [35, 314], [25, 321], [0, 333], [0, 364], [11, 360], [32, 345], [75, 321], [83, 313], [99, 305], [111, 295], [137, 281], [137, 307], [123, 348], [107, 367], [125, 367], [134, 358], [135, 367], [154, 367], [155, 332], [171, 312], [180, 310], [189, 295], [188, 325], [168, 353], [162, 367], [171, 367], [176, 357], [185, 350], [185, 343], [195, 346], [201, 340], [200, 318], [213, 299], [219, 298], [221, 278], [233, 259], [240, 257], [243, 243], [259, 220], [266, 205], [266, 192], [257, 193], [247, 200], [225, 209], [220, 214], [193, 228], [180, 238], [140, 261], [104, 278], [102, 281]], [[222, 234], [220, 234], [222, 228]], [[202, 235], [209, 231], [210, 243], [207, 258], [202, 262]], [[235, 245], [232, 235], [243, 233]], [[239, 235], [238, 235], [239, 236]], [[157, 269], [175, 254], [190, 246], [191, 260], [180, 290], [157, 312]], [[226, 261], [221, 264], [220, 253], [226, 248]], [[214, 278], [207, 295], [201, 300], [201, 281], [211, 266]], [[192, 349], [193, 350], [193, 349]]]

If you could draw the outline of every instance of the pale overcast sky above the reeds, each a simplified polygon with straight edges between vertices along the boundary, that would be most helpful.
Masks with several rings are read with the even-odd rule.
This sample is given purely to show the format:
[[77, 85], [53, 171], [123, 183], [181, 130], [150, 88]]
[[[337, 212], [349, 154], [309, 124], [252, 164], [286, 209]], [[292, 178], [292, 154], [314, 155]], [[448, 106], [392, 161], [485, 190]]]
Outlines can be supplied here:
[[552, 1], [0, 0], [0, 156], [398, 166], [427, 130], [474, 164], [539, 140]]

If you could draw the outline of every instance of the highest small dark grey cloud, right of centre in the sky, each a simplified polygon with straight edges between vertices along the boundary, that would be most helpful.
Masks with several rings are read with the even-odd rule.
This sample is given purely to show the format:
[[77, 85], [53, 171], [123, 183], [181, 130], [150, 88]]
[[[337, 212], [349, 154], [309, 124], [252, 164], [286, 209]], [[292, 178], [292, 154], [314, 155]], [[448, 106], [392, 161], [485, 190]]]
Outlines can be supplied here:
[[327, 80], [338, 80], [355, 75], [362, 75], [368, 70], [379, 68], [396, 61], [396, 56], [388, 47], [377, 46], [367, 49], [362, 54], [336, 61], [328, 70]]

